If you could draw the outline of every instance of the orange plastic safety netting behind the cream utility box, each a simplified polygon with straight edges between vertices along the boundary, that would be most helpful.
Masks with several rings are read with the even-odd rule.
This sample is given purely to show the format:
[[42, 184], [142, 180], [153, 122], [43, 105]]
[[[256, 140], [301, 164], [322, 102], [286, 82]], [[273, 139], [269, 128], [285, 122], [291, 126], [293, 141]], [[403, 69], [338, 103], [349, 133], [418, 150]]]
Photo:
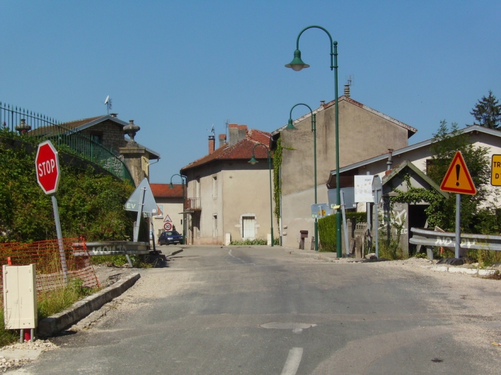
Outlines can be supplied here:
[[[63, 250], [65, 254], [65, 262], [63, 261], [63, 263], [66, 263], [67, 268], [66, 274], [63, 272], [61, 263]], [[94, 268], [91, 265], [91, 257], [82, 239], [0, 243], [0, 265], [30, 265], [33, 263], [36, 265], [37, 293], [65, 287], [65, 279], [67, 281], [80, 279], [84, 287], [99, 286]], [[2, 269], [0, 268], [1, 273]], [[1, 289], [3, 289], [3, 282], [0, 284]]]

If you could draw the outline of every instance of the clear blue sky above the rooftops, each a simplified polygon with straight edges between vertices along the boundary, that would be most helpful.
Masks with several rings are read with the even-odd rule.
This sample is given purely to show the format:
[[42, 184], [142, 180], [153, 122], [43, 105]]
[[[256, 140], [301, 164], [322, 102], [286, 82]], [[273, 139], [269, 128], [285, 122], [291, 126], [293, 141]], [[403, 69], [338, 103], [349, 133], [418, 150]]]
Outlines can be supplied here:
[[[432, 136], [439, 121], [471, 124], [489, 90], [501, 99], [501, 1], [23, 1], [0, 3], [0, 101], [58, 121], [113, 112], [161, 154], [150, 182], [170, 182], [207, 154], [212, 125], [271, 132], [296, 103], [339, 93]], [[299, 107], [297, 118], [305, 114]], [[342, 124], [341, 124], [342, 125]], [[174, 182], [176, 179], [174, 178]]]

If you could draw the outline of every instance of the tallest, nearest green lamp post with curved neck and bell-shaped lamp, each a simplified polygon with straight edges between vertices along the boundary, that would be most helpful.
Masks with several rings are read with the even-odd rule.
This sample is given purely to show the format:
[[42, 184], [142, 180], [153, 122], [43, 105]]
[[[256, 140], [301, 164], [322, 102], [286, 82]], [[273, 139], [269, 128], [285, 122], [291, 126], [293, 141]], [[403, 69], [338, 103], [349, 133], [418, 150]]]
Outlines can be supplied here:
[[[296, 51], [294, 51], [294, 59], [287, 64], [286, 67], [291, 68], [294, 71], [300, 71], [303, 68], [307, 68], [308, 64], [305, 64], [301, 60], [301, 51], [299, 51], [299, 38], [301, 34], [307, 29], [321, 29], [329, 36], [330, 47], [331, 47], [331, 70], [334, 69], [334, 90], [336, 96], [335, 102], [335, 112], [336, 112], [336, 199], [338, 204], [341, 202], [340, 197], [340, 181], [339, 181], [339, 108], [338, 108], [338, 42], [332, 41], [331, 34], [321, 26], [308, 26], [301, 30], [296, 40]], [[338, 258], [341, 257], [341, 213], [339, 210], [336, 213], [336, 251]]]

